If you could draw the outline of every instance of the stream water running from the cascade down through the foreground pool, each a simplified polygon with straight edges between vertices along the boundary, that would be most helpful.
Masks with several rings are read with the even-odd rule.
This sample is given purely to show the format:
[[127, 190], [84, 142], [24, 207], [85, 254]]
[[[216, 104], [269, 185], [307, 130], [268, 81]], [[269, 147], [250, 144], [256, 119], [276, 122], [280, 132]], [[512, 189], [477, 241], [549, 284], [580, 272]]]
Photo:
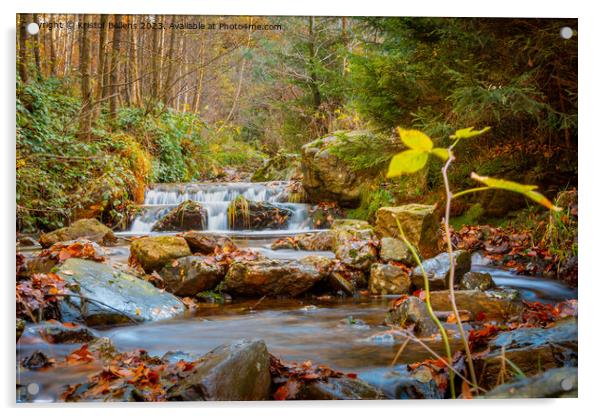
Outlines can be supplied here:
[[[280, 237], [306, 233], [310, 221], [305, 204], [286, 201], [286, 183], [223, 183], [159, 185], [147, 190], [141, 213], [130, 230], [117, 233], [120, 243], [106, 252], [112, 264], [127, 264], [128, 238], [152, 232], [152, 225], [177, 204], [194, 200], [209, 207], [207, 233], [230, 234], [237, 246], [259, 251], [268, 258], [300, 259], [319, 254], [334, 257], [334, 253], [303, 250], [272, 250], [271, 244]], [[227, 229], [227, 207], [238, 195], [250, 201], [268, 201], [293, 210], [286, 229], [235, 232]], [[170, 234], [170, 233], [165, 233]], [[173, 234], [173, 233], [171, 233]], [[32, 257], [39, 249], [22, 251]], [[515, 288], [529, 302], [557, 303], [575, 299], [575, 289], [552, 280], [519, 276], [511, 270], [487, 265], [479, 253], [472, 256], [472, 271], [490, 273], [498, 286]], [[401, 340], [395, 331], [384, 325], [386, 310], [396, 295], [321, 297], [301, 299], [234, 299], [225, 303], [204, 303], [191, 312], [174, 319], [143, 323], [135, 326], [97, 328], [100, 336], [109, 337], [119, 350], [144, 349], [151, 355], [172, 357], [201, 356], [215, 347], [240, 339], [263, 339], [269, 351], [286, 361], [324, 364], [339, 371], [356, 373], [360, 379], [393, 396], [388, 380], [399, 376], [403, 364], [430, 358], [430, 354], [416, 343], [410, 342], [394, 368], [391, 363]], [[77, 344], [48, 344], [26, 331], [17, 344], [17, 361], [43, 351], [59, 360], [78, 347]], [[435, 351], [442, 353], [437, 339], [426, 341]], [[460, 347], [457, 337], [452, 339], [454, 349]], [[36, 383], [40, 392], [34, 401], [55, 401], [64, 386], [82, 382], [99, 370], [94, 363], [65, 369], [46, 371], [21, 371], [17, 382]]]

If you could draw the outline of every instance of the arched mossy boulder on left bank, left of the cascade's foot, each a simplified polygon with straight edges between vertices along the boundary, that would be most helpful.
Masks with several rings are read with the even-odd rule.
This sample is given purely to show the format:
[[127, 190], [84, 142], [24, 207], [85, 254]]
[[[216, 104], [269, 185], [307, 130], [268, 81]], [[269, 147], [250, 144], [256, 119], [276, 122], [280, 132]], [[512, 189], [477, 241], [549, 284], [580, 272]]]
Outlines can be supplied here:
[[77, 240], [85, 238], [102, 245], [114, 244], [117, 239], [113, 231], [103, 223], [95, 219], [83, 219], [75, 221], [69, 227], [59, 228], [50, 233], [40, 236], [40, 245], [48, 248], [60, 241]]

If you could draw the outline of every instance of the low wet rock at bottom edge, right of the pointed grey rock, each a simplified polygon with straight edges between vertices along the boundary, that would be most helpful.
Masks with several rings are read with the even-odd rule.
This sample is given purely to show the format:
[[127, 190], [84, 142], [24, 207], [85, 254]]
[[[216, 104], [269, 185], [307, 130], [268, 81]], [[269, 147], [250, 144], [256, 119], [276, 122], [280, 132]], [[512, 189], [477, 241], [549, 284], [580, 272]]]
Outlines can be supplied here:
[[300, 400], [380, 400], [384, 395], [368, 383], [351, 377], [330, 377], [328, 381], [304, 383]]

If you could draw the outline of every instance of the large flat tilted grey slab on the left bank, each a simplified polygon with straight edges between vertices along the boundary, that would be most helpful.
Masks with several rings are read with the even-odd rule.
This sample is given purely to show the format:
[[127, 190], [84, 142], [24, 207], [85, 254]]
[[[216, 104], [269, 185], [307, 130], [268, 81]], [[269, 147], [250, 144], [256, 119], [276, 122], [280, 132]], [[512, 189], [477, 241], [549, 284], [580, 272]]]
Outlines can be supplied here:
[[168, 319], [185, 309], [172, 294], [105, 263], [71, 258], [57, 273], [75, 294], [83, 297], [65, 297], [61, 301], [64, 319], [92, 326], [112, 325]]

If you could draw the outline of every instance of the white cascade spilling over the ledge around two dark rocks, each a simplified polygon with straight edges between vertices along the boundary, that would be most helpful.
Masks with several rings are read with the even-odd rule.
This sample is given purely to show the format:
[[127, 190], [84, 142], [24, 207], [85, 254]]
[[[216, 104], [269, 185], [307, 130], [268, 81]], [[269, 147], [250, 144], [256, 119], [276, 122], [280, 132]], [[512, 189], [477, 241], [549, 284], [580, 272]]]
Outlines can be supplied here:
[[[207, 210], [206, 231], [228, 231], [228, 206], [243, 196], [252, 202], [269, 202], [292, 211], [288, 221], [289, 231], [306, 231], [311, 228], [307, 204], [288, 201], [289, 182], [232, 182], [159, 184], [148, 189], [144, 205], [132, 222], [129, 233], [150, 233], [153, 225], [184, 201], [195, 201]], [[267, 231], [267, 230], [266, 230]]]

